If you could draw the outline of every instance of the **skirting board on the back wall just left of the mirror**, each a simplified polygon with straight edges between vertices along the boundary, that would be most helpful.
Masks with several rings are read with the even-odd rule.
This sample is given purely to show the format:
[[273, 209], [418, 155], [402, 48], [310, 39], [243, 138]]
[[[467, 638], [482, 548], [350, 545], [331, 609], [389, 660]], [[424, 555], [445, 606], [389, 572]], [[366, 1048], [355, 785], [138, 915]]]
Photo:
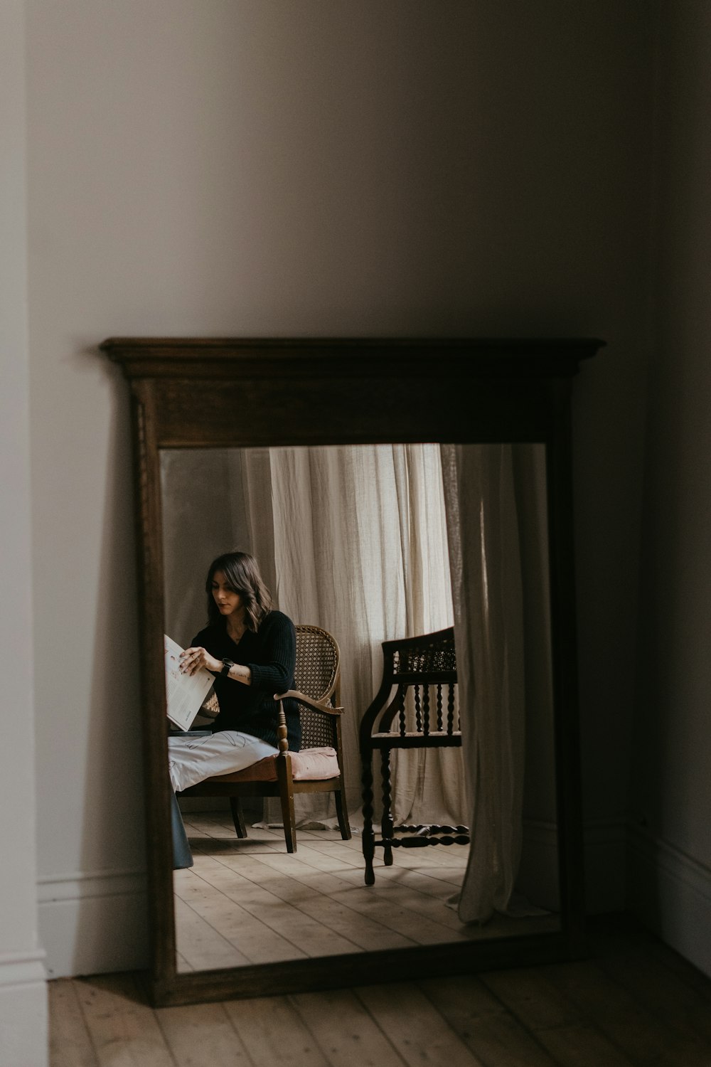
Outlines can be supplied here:
[[94, 871], [37, 882], [47, 975], [141, 970], [147, 965], [146, 876]]

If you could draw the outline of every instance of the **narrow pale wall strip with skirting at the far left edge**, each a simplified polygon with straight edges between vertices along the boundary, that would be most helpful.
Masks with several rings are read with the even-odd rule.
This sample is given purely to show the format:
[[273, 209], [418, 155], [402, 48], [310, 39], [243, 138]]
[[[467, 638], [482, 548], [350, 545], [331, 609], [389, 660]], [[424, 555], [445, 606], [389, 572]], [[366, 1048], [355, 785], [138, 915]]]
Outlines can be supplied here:
[[0, 5], [0, 1064], [47, 1063], [35, 908], [23, 16]]

